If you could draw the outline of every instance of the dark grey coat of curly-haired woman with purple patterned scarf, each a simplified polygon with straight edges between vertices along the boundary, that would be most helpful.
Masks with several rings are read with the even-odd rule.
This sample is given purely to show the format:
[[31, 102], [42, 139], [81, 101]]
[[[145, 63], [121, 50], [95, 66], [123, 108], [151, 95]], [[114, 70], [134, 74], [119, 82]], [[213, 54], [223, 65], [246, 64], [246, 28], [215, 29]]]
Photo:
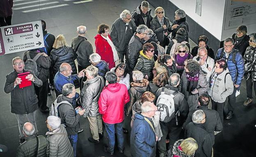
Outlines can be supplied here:
[[198, 97], [204, 93], [206, 93], [209, 90], [209, 84], [206, 79], [206, 76], [204, 75], [203, 71], [199, 70], [199, 78], [198, 78], [198, 84], [197, 84], [197, 91], [198, 93], [192, 94], [187, 91], [187, 77], [185, 75], [185, 70], [183, 71], [181, 75], [181, 83], [179, 84], [179, 89], [181, 90], [181, 93], [185, 95], [185, 99], [187, 100], [189, 111], [192, 111], [197, 108], [198, 106]]

